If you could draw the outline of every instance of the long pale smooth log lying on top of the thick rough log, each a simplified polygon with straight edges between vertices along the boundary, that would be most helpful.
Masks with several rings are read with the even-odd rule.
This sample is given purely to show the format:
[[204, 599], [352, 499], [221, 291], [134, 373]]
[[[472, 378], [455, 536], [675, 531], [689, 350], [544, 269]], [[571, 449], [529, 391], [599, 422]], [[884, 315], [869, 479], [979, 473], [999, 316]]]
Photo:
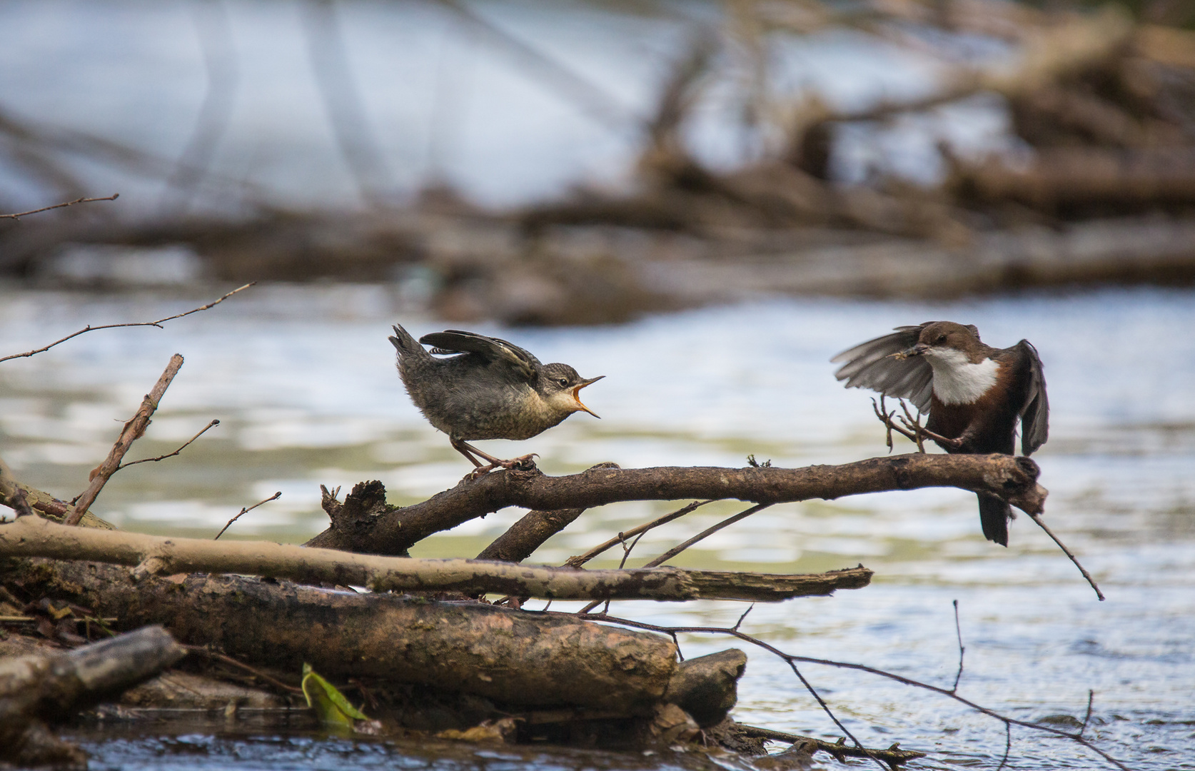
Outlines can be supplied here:
[[859, 567], [813, 575], [650, 568], [576, 570], [477, 559], [413, 559], [345, 553], [269, 541], [161, 538], [56, 525], [22, 516], [0, 525], [0, 556], [88, 559], [135, 565], [140, 574], [235, 573], [375, 592], [516, 594], [543, 599], [731, 599], [776, 601], [854, 589], [871, 581]]

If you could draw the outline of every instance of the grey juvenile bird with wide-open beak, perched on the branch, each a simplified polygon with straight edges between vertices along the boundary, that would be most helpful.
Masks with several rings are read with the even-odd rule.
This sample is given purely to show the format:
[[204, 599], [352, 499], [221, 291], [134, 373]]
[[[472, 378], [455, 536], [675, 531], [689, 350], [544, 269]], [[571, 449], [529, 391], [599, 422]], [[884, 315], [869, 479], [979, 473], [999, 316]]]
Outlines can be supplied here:
[[[598, 417], [578, 393], [606, 375], [586, 379], [569, 365], [543, 365], [513, 343], [474, 332], [449, 329], [417, 343], [396, 325], [394, 335], [390, 342], [398, 349], [398, 374], [411, 400], [477, 466], [474, 473], [509, 469], [531, 455], [500, 460], [466, 440], [531, 439], [574, 412]], [[419, 343], [431, 345], [431, 353]]]

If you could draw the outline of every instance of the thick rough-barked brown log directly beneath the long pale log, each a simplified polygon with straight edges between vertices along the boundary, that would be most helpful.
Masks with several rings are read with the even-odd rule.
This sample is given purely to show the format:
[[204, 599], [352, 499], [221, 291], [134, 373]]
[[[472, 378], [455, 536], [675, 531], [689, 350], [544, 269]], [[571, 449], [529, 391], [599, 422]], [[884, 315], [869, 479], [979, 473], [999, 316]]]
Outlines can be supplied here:
[[93, 562], [0, 559], [0, 583], [86, 605], [116, 617], [116, 629], [161, 624], [182, 642], [295, 679], [308, 662], [330, 678], [422, 684], [508, 705], [650, 715], [676, 671], [670, 640], [571, 616], [232, 575], [174, 579], [137, 581], [127, 568]]

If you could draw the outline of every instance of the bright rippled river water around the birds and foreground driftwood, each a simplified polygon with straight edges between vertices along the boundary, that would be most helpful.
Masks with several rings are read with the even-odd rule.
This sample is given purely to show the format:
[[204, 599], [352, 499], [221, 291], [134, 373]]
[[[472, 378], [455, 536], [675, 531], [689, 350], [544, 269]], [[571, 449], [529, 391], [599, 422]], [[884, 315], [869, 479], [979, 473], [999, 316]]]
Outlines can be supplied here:
[[[379, 478], [392, 501], [419, 500], [454, 484], [467, 466], [407, 402], [386, 341], [393, 320], [416, 335], [443, 325], [404, 314], [396, 296], [381, 287], [258, 288], [166, 330], [92, 332], [5, 362], [2, 455], [30, 483], [73, 494], [178, 351], [186, 365], [133, 454], [170, 452], [213, 417], [221, 426], [182, 458], [121, 472], [97, 503], [102, 515], [133, 530], [210, 536], [241, 506], [282, 490], [280, 501], [232, 533], [300, 541], [326, 521], [320, 483], [348, 488]], [[2, 353], [86, 323], [159, 318], [204, 299], [4, 292]], [[827, 360], [896, 324], [932, 318], [975, 323], [992, 344], [1028, 337], [1037, 345], [1053, 406], [1050, 442], [1035, 455], [1052, 491], [1047, 516], [1101, 581], [1107, 602], [1095, 600], [1027, 518], [1013, 524], [1010, 549], [983, 541], [974, 496], [957, 490], [778, 506], [678, 564], [807, 571], [863, 562], [877, 571], [872, 587], [758, 606], [744, 629], [802, 655], [948, 686], [957, 666], [950, 600], [958, 599], [964, 696], [1022, 718], [1081, 720], [1093, 689], [1095, 735], [1113, 754], [1139, 769], [1195, 767], [1195, 738], [1184, 722], [1195, 692], [1191, 292], [932, 306], [774, 300], [617, 328], [483, 326], [544, 361], [607, 375], [587, 392], [601, 421], [574, 416], [527, 442], [486, 446], [498, 454], [538, 452], [549, 473], [601, 460], [740, 466], [754, 453], [777, 465], [807, 465], [882, 454], [869, 397], [842, 390]], [[663, 503], [625, 503], [589, 512], [533, 561], [557, 563], [664, 510]], [[711, 504], [650, 533], [637, 552], [658, 553], [735, 510]], [[416, 553], [476, 555], [517, 516], [509, 510], [476, 520]], [[679, 624], [731, 624], [742, 610], [615, 605], [620, 613]], [[710, 638], [682, 644], [688, 655], [727, 647]], [[834, 735], [780, 662], [750, 655], [740, 720]], [[951, 702], [871, 677], [805, 669], [860, 739], [946, 753], [925, 767], [973, 757], [994, 766], [1003, 753], [1003, 726]], [[1093, 763], [1066, 742], [1027, 733], [1013, 734], [1012, 767]]]

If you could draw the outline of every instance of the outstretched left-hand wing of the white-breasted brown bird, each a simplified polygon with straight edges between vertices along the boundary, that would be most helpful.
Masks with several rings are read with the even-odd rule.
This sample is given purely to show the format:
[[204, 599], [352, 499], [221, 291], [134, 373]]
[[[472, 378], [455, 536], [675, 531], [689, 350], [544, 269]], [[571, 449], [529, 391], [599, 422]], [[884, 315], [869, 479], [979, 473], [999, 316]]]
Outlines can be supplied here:
[[917, 344], [921, 330], [931, 324], [897, 326], [883, 337], [848, 348], [831, 361], [845, 361], [834, 377], [846, 380], [847, 388], [871, 388], [885, 396], [908, 399], [923, 412], [930, 411], [933, 369], [924, 356], [897, 360], [893, 354]]

